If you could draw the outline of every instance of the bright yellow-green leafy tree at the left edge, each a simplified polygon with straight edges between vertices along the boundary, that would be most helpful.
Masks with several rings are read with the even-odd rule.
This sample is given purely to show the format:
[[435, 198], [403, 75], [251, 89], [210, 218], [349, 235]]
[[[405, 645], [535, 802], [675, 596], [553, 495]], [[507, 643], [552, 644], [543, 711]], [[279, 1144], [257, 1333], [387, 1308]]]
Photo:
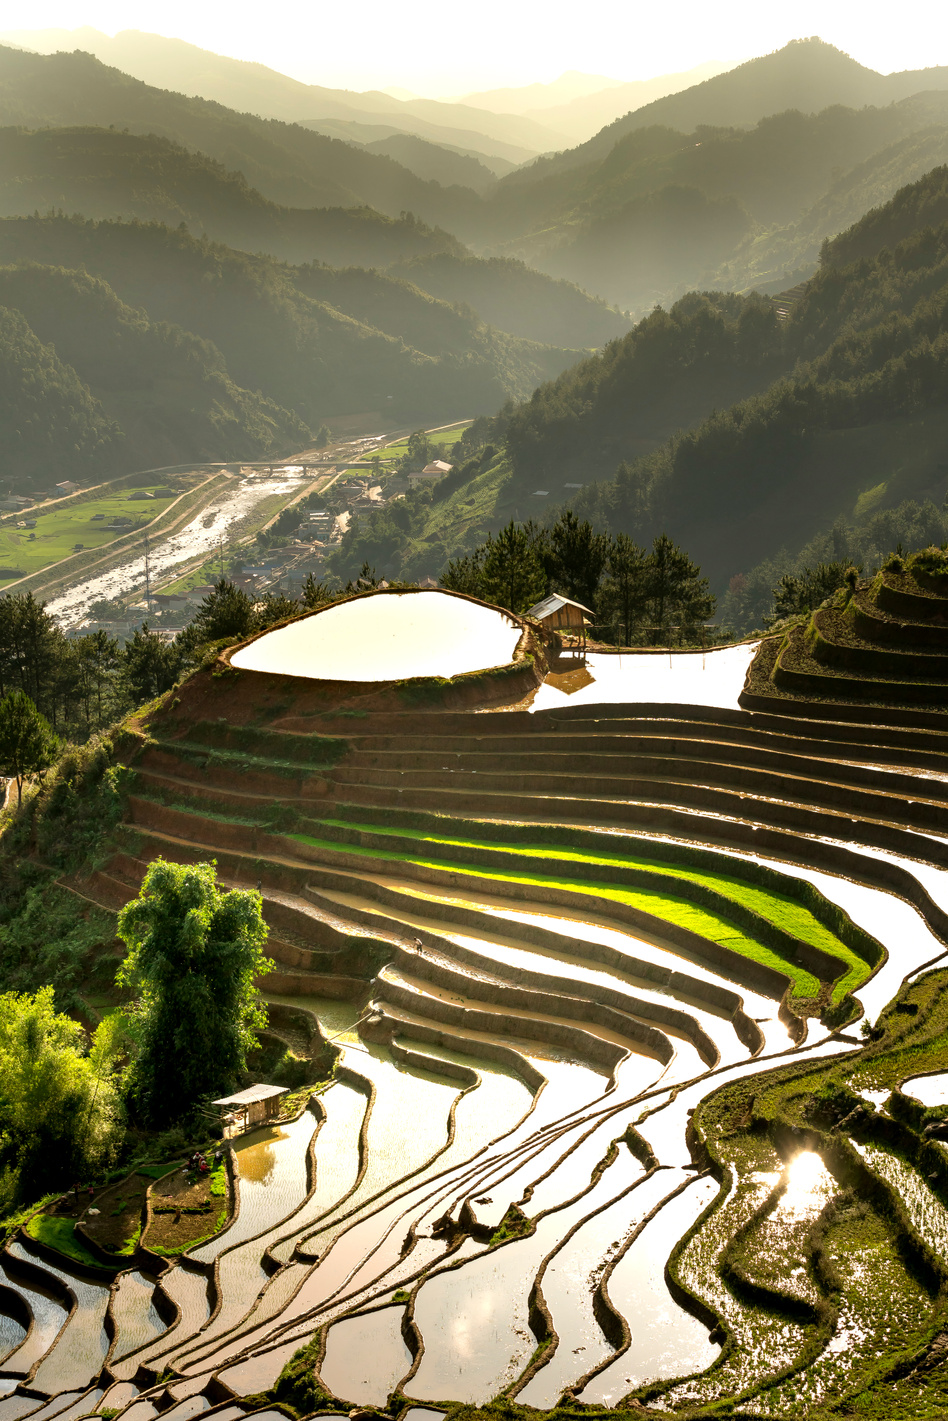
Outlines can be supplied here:
[[[118, 1013], [115, 1013], [118, 1017]], [[0, 1196], [63, 1188], [109, 1162], [121, 1141], [121, 1025], [97, 1027], [54, 1009], [53, 988], [0, 996]]]

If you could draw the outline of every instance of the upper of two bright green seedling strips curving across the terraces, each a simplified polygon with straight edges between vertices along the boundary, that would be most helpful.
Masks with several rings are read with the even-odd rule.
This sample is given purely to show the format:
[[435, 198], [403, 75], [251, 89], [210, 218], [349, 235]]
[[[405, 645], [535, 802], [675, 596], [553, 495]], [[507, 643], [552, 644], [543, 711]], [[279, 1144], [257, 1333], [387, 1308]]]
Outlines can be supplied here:
[[[392, 837], [402, 838], [406, 837], [404, 828], [350, 824], [347, 820], [327, 820], [325, 823], [340, 828], [355, 828], [361, 833], [391, 834]], [[480, 841], [475, 838], [449, 838], [448, 836], [429, 834], [421, 830], [412, 831], [411, 837], [418, 838], [422, 843], [446, 844], [448, 847], [458, 848], [490, 850], [495, 853], [502, 851], [507, 854], [519, 854], [523, 858], [542, 858], [546, 861], [550, 858], [560, 858], [569, 863], [590, 864], [593, 868], [600, 864], [611, 868], [640, 868], [651, 874], [661, 874], [665, 878], [681, 878], [686, 882], [696, 882], [719, 894], [722, 898], [729, 898], [732, 902], [742, 904], [742, 907], [756, 912], [760, 918], [766, 918], [767, 922], [773, 922], [777, 928], [792, 934], [802, 942], [807, 942], [810, 946], [819, 948], [822, 952], [829, 952], [831, 956], [839, 958], [840, 963], [844, 965], [847, 971], [846, 975], [836, 983], [833, 990], [834, 1002], [840, 1000], [846, 992], [853, 992], [870, 973], [870, 968], [863, 958], [853, 952], [851, 948], [847, 948], [846, 944], [841, 942], [836, 934], [830, 931], [830, 928], [826, 928], [802, 902], [797, 902], [789, 895], [760, 888], [756, 884], [749, 884], [746, 880], [732, 877], [731, 874], [718, 874], [705, 868], [672, 864], [655, 858], [640, 858], [635, 855], [625, 855], [620, 858], [610, 854], [593, 854], [578, 848], [561, 848], [550, 844], [507, 844]], [[715, 938], [713, 941], [716, 942], [719, 939]], [[810, 976], [810, 980], [816, 979]]]

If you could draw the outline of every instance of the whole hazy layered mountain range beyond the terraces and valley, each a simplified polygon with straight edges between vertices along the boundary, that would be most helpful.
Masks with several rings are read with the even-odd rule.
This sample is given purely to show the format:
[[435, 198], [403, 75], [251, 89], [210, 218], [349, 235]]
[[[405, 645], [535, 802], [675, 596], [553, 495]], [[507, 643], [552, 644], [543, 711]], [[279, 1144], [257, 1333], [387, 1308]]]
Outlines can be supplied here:
[[[439, 104], [119, 41], [151, 81], [0, 47], [0, 426], [24, 479], [479, 415], [493, 453], [418, 547], [367, 524], [385, 571], [569, 499], [668, 526], [716, 580], [937, 490], [948, 68], [809, 40], [657, 98], [564, 75]], [[547, 119], [559, 151], [530, 156], [544, 114], [618, 91], [638, 107], [573, 146]]]

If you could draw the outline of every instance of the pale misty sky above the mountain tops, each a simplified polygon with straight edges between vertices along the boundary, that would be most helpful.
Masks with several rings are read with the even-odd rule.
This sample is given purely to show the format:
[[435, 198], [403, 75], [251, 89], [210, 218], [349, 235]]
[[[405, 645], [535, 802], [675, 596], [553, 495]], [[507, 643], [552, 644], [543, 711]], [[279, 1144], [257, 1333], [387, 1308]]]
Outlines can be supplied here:
[[648, 78], [705, 60], [739, 61], [819, 34], [860, 63], [948, 64], [945, 0], [30, 0], [4, 6], [4, 30], [152, 30], [259, 60], [308, 84], [404, 85], [448, 97], [553, 80], [563, 70]]

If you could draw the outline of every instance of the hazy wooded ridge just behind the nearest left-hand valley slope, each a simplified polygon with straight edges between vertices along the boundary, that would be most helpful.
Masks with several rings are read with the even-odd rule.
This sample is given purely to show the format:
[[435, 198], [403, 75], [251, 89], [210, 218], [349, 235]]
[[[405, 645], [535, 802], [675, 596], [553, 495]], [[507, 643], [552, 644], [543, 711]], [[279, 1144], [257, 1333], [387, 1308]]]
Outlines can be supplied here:
[[[233, 252], [159, 223], [7, 217], [0, 222], [0, 261], [24, 260], [104, 277], [152, 321], [213, 341], [239, 385], [263, 391], [313, 428], [333, 414], [361, 411], [387, 411], [398, 422], [443, 412], [459, 418], [496, 408], [509, 395], [523, 398], [576, 358], [489, 331], [473, 313], [389, 283], [425, 338], [415, 348], [308, 294], [307, 286], [320, 286], [318, 270]], [[384, 280], [372, 277], [370, 291]], [[358, 277], [348, 283], [351, 300], [364, 303], [368, 293], [360, 294], [358, 284]], [[333, 283], [335, 298], [345, 300], [345, 286]]]

